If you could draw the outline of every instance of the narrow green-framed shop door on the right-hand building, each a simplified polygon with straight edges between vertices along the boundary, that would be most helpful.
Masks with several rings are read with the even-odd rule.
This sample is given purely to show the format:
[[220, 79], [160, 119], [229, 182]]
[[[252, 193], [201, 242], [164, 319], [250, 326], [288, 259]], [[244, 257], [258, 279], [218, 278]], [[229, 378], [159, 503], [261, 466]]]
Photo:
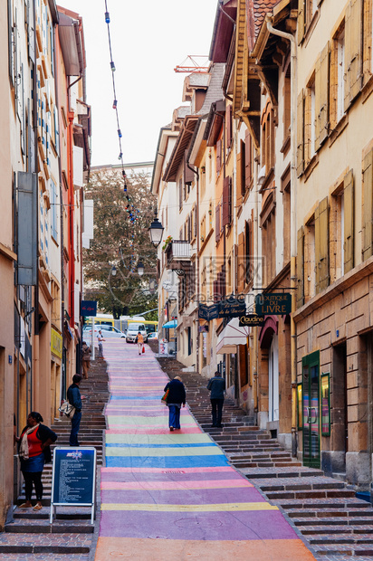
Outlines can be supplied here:
[[320, 352], [301, 360], [303, 464], [320, 468]]

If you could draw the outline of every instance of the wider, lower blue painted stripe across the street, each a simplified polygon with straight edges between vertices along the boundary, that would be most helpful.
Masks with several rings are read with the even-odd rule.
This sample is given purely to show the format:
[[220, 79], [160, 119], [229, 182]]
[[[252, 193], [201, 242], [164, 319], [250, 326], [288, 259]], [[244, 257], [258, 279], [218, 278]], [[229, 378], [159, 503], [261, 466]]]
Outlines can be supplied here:
[[107, 468], [215, 468], [229, 465], [223, 455], [219, 456], [147, 456], [106, 457]]

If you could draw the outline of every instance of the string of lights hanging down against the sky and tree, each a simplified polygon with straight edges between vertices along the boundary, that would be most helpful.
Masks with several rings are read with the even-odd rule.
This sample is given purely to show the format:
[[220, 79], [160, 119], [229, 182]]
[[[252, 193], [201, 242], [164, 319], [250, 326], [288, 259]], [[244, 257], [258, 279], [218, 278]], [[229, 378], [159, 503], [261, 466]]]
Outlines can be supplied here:
[[[129, 221], [132, 224], [132, 232], [130, 234], [130, 239], [129, 239], [129, 247], [131, 248], [129, 271], [133, 272], [134, 268], [135, 268], [135, 265], [136, 265], [136, 261], [137, 261], [135, 253], [134, 253], [134, 240], [135, 240], [135, 223], [136, 223], [137, 219], [139, 218], [139, 209], [135, 208], [135, 205], [133, 204], [131, 198], [129, 197], [129, 195], [127, 193], [127, 188], [128, 188], [127, 175], [126, 175], [126, 170], [125, 170], [124, 162], [123, 162], [123, 149], [122, 149], [122, 144], [121, 144], [122, 133], [121, 133], [121, 128], [120, 128], [120, 115], [119, 115], [119, 111], [118, 111], [117, 89], [115, 87], [115, 71], [116, 71], [116, 68], [115, 68], [115, 63], [113, 61], [113, 56], [112, 56], [111, 35], [110, 35], [110, 13], [109, 13], [109, 10], [108, 10], [107, 0], [105, 0], [105, 22], [108, 26], [110, 69], [111, 69], [112, 90], [113, 90], [112, 109], [115, 110], [115, 114], [116, 114], [116, 118], [117, 118], [117, 132], [118, 132], [118, 139], [119, 139], [119, 145], [120, 145], [120, 155], [119, 155], [118, 159], [120, 160], [120, 164], [121, 164], [121, 174], [122, 174], [122, 178], [123, 178], [123, 191], [124, 191], [124, 193], [126, 195], [126, 199], [127, 199], [126, 211], [128, 213]], [[125, 265], [123, 260], [122, 260], [122, 262]]]

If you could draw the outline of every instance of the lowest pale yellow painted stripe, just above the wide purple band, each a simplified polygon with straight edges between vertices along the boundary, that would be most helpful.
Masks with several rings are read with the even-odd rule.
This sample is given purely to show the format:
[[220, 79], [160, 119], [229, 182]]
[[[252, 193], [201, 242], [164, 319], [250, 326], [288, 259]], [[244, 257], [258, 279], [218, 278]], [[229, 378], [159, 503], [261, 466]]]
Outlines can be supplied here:
[[240, 510], [278, 510], [268, 502], [234, 502], [212, 505], [155, 505], [102, 503], [101, 510], [147, 510], [148, 512], [238, 512]]

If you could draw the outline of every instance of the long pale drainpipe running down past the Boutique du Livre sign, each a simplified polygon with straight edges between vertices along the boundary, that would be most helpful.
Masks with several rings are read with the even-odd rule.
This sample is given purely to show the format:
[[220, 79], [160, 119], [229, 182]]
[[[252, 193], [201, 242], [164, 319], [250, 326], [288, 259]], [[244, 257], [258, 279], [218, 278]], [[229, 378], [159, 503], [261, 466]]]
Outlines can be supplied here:
[[[292, 288], [292, 312], [296, 309], [295, 290], [297, 288], [296, 276], [296, 254], [297, 254], [297, 169], [296, 169], [296, 119], [295, 108], [297, 107], [297, 44], [291, 33], [285, 33], [273, 28], [273, 16], [265, 16], [267, 29], [273, 35], [278, 35], [287, 39], [292, 48], [292, 77], [291, 77], [291, 288]], [[296, 327], [294, 319], [291, 317], [291, 371], [292, 371], [292, 456], [297, 455], [297, 419], [296, 419], [296, 399], [297, 399], [297, 347], [296, 347]]]

